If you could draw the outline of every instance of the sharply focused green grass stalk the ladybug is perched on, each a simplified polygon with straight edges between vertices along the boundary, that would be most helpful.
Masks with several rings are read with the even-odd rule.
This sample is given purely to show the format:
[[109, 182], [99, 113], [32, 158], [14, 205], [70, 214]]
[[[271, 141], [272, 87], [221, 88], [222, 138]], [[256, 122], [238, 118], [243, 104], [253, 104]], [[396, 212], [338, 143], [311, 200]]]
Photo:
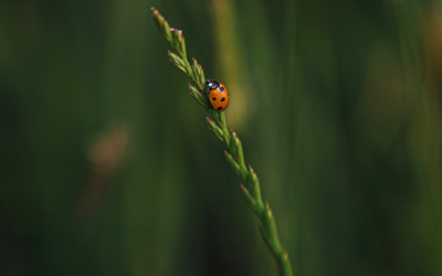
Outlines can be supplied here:
[[256, 173], [250, 164], [245, 166], [241, 140], [233, 130], [228, 130], [224, 112], [219, 113], [210, 108], [210, 100], [208, 96], [203, 94], [207, 87], [204, 72], [201, 65], [198, 64], [194, 59], [192, 59], [192, 64], [188, 62], [186, 40], [182, 35], [182, 31], [170, 28], [169, 23], [155, 8], [150, 10], [158, 30], [175, 49], [176, 53], [168, 51], [170, 62], [192, 79], [193, 85], [189, 84], [190, 95], [210, 114], [211, 119], [207, 118], [209, 129], [228, 148], [228, 150], [224, 151], [225, 158], [242, 182], [241, 190], [244, 200], [260, 221], [261, 235], [276, 259], [280, 275], [292, 276], [288, 255], [281, 245], [277, 235], [275, 217], [269, 203], [266, 201], [263, 202], [261, 199], [260, 181]]

